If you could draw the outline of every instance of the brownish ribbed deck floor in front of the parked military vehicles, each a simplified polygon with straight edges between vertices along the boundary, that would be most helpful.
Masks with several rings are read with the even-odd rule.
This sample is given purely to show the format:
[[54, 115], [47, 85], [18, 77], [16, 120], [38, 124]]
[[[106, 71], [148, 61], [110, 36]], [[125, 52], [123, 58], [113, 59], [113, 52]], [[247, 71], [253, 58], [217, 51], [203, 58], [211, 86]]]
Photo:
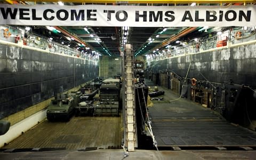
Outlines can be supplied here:
[[122, 117], [73, 117], [69, 122], [47, 119], [3, 148], [120, 148]]

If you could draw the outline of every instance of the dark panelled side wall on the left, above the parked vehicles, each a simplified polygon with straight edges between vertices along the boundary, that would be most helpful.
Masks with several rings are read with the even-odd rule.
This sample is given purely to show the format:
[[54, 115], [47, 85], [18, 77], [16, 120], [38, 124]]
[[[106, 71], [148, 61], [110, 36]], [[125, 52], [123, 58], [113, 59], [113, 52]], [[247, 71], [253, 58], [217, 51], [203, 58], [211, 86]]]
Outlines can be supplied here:
[[97, 76], [93, 61], [0, 44], [0, 119]]

